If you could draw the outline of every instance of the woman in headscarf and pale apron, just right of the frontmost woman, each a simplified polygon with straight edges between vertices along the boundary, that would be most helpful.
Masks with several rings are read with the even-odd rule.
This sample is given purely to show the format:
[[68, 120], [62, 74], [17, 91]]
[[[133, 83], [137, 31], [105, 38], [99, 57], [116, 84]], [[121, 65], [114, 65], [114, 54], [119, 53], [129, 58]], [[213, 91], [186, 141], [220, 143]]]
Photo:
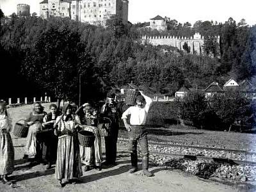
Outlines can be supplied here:
[[83, 147], [80, 145], [81, 161], [85, 164], [84, 171], [90, 170], [90, 167], [94, 166], [97, 170], [101, 170], [102, 163], [102, 151], [99, 129], [97, 129], [98, 119], [97, 113], [93, 111], [90, 104], [85, 103], [79, 109], [76, 114], [81, 120], [84, 131], [93, 132], [95, 135], [94, 145], [92, 147]]

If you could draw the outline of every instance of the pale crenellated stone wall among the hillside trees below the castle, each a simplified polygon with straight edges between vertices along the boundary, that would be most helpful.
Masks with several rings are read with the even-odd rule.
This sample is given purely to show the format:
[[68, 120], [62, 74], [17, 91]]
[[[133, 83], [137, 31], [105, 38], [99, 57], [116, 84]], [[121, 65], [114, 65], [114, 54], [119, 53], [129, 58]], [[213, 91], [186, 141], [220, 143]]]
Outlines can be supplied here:
[[[220, 36], [216, 36], [217, 42], [220, 45]], [[183, 45], [185, 42], [190, 47], [191, 54], [202, 54], [204, 53], [204, 36], [200, 33], [195, 33], [191, 37], [186, 36], [142, 36], [143, 44], [152, 45], [169, 45], [172, 47], [177, 47], [179, 50], [183, 51]]]

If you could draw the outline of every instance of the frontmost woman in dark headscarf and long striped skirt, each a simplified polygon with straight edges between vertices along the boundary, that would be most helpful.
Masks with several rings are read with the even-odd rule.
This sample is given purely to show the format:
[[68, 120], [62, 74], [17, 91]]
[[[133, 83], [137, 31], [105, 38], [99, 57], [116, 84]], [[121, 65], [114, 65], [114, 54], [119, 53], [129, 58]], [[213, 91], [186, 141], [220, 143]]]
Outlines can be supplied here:
[[56, 119], [57, 128], [54, 130], [58, 136], [56, 179], [61, 187], [65, 186], [63, 179], [68, 182], [83, 175], [77, 138], [77, 128], [81, 125], [79, 117], [72, 114], [70, 104], [63, 106], [62, 113]]

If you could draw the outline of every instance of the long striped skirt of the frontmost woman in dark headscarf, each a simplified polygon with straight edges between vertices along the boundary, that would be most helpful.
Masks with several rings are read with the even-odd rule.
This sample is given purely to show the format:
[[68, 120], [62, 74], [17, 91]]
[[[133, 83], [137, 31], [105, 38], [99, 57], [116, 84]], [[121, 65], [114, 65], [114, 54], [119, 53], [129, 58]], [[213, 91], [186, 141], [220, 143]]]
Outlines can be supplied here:
[[56, 179], [70, 180], [82, 175], [77, 136], [60, 136], [57, 149]]

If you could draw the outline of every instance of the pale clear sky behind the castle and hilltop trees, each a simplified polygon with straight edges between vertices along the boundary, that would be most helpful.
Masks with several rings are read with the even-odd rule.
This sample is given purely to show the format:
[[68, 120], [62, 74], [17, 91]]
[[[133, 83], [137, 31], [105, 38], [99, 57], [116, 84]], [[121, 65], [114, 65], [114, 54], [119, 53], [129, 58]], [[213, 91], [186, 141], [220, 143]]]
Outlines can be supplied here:
[[[4, 15], [17, 12], [18, 3], [30, 5], [31, 13], [39, 13], [43, 0], [0, 0]], [[145, 22], [156, 15], [167, 16], [179, 22], [217, 20], [225, 22], [229, 17], [239, 21], [245, 19], [256, 24], [256, 0], [129, 0], [129, 21]]]

